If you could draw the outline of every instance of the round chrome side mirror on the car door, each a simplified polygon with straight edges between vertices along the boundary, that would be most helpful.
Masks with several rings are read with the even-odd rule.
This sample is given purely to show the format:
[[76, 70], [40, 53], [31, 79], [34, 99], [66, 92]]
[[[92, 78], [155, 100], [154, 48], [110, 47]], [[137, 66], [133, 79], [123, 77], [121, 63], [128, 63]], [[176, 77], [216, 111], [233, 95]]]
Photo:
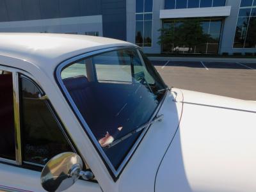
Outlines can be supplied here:
[[41, 173], [41, 184], [46, 191], [64, 191], [70, 188], [79, 177], [93, 179], [92, 172], [83, 172], [81, 157], [72, 152], [65, 152], [52, 157]]

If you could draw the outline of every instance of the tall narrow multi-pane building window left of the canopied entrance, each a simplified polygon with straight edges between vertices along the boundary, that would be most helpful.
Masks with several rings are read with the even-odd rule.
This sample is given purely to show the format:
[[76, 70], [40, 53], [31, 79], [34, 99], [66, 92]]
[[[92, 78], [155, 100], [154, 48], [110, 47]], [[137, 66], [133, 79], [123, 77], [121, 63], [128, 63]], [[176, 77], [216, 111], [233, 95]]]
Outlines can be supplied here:
[[152, 45], [153, 0], [136, 0], [136, 38], [140, 47]]

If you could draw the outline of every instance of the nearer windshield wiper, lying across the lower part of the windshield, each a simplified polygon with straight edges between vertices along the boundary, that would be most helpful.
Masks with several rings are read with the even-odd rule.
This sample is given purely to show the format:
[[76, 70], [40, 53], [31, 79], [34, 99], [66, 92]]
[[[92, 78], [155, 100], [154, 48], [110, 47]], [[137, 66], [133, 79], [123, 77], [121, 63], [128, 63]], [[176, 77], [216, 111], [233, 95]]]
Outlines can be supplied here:
[[121, 138], [114, 140], [113, 143], [110, 143], [109, 145], [106, 146], [106, 148], [111, 148], [113, 146], [115, 146], [116, 144], [126, 140], [127, 138], [131, 137], [132, 135], [134, 135], [136, 132], [140, 132], [141, 130], [145, 129], [146, 127], [148, 127], [149, 125], [154, 124], [154, 122], [161, 122], [164, 118], [164, 115], [159, 115], [156, 116], [155, 118], [153, 118], [152, 120], [150, 120], [149, 122], [147, 122], [144, 125], [141, 125], [140, 127], [138, 127], [137, 129], [134, 129], [133, 131], [125, 134], [125, 136], [122, 136]]

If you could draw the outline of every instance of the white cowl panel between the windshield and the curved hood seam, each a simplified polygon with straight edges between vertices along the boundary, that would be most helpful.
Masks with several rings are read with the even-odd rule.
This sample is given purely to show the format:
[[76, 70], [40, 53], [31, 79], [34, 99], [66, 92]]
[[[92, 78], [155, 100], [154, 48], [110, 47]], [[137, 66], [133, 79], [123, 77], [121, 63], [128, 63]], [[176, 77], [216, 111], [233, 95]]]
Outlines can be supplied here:
[[182, 100], [182, 92], [174, 89], [166, 95], [158, 113], [164, 114], [164, 120], [148, 129], [143, 142], [132, 156], [132, 161], [127, 164], [118, 180], [118, 191], [154, 191], [157, 169], [177, 131], [182, 114], [182, 103], [175, 102], [177, 97]]

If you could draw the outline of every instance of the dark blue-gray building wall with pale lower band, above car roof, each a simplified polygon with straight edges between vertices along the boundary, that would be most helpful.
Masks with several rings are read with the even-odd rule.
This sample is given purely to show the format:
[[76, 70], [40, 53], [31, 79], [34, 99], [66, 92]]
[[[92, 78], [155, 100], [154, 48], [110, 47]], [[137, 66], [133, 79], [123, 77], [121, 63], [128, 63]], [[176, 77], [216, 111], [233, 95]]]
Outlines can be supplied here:
[[[99, 31], [100, 36], [126, 40], [125, 10], [125, 0], [0, 0], [0, 32]], [[102, 17], [90, 22], [85, 16], [92, 15]]]

